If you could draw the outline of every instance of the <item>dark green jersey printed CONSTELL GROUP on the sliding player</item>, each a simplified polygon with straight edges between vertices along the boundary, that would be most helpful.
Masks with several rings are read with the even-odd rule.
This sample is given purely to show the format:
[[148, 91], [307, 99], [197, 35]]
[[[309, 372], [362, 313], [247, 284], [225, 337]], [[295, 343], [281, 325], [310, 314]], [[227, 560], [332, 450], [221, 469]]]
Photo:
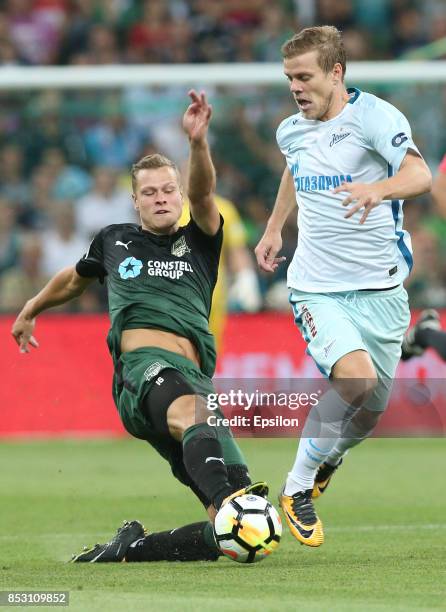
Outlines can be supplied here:
[[208, 320], [222, 225], [223, 220], [214, 236], [193, 219], [170, 236], [130, 223], [109, 225], [96, 235], [76, 270], [80, 276], [107, 279], [109, 347], [115, 362], [124, 329], [160, 329], [191, 340], [202, 371], [213, 375], [216, 355]]

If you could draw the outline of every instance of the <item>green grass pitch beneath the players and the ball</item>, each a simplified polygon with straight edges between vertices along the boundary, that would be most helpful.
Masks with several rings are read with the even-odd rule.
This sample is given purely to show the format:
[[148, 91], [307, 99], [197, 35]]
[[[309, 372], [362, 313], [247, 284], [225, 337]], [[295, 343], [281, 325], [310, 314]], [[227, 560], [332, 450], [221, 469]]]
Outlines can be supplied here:
[[[295, 441], [242, 446], [275, 503]], [[69, 590], [68, 609], [87, 612], [444, 610], [445, 451], [444, 439], [368, 440], [354, 449], [317, 501], [320, 549], [299, 545], [285, 528], [278, 551], [257, 565], [73, 565], [73, 552], [109, 539], [124, 519], [162, 530], [201, 520], [203, 511], [143, 442], [3, 443], [0, 589]]]

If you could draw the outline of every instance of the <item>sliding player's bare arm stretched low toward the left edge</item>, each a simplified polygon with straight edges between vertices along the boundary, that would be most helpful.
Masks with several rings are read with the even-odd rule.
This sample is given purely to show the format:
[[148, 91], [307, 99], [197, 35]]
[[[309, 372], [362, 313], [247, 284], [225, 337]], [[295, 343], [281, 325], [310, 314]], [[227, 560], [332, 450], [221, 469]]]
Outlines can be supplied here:
[[33, 336], [38, 314], [65, 304], [85, 291], [95, 279], [79, 276], [74, 267], [58, 272], [33, 298], [28, 300], [17, 316], [11, 333], [20, 347], [21, 353], [29, 353], [29, 346], [38, 348], [39, 343]]

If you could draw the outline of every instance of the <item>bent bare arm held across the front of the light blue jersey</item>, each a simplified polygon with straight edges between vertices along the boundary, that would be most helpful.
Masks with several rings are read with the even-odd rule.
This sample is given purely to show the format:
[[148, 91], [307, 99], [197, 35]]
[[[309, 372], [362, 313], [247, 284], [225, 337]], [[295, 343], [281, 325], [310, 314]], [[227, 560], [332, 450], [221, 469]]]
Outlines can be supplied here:
[[350, 195], [342, 202], [342, 206], [355, 204], [344, 215], [346, 219], [364, 209], [360, 224], [367, 219], [370, 211], [381, 204], [383, 200], [405, 200], [430, 191], [432, 174], [422, 157], [408, 152], [395, 176], [377, 183], [342, 183], [333, 190], [334, 193], [348, 192]]

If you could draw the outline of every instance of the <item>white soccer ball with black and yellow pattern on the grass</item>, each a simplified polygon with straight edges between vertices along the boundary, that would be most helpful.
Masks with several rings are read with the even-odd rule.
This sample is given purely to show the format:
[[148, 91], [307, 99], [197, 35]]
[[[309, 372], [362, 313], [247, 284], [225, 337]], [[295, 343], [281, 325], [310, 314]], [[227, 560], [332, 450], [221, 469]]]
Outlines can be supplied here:
[[279, 546], [282, 522], [267, 499], [240, 495], [219, 510], [214, 534], [224, 555], [238, 563], [256, 563]]

